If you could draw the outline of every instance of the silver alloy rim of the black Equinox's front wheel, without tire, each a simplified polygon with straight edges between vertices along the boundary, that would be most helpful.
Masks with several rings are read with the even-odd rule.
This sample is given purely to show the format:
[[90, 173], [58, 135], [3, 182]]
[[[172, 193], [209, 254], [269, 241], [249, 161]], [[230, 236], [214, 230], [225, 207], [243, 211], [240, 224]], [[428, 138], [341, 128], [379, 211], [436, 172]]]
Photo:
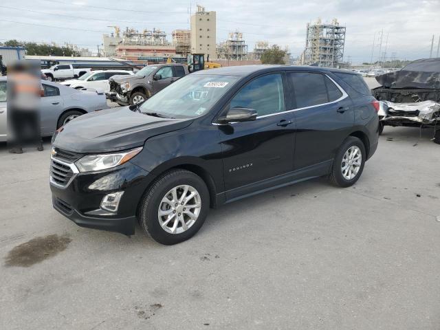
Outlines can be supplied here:
[[186, 232], [199, 217], [201, 197], [192, 186], [181, 185], [169, 190], [159, 204], [157, 216], [163, 230], [170, 234]]

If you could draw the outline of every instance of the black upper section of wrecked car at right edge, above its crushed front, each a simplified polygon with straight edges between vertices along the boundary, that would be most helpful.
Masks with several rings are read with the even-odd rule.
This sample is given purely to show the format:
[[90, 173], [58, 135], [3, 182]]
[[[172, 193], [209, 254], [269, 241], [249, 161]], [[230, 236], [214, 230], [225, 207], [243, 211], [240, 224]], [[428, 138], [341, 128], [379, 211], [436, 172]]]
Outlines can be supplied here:
[[440, 89], [440, 58], [423, 58], [396, 72], [376, 77], [388, 88]]

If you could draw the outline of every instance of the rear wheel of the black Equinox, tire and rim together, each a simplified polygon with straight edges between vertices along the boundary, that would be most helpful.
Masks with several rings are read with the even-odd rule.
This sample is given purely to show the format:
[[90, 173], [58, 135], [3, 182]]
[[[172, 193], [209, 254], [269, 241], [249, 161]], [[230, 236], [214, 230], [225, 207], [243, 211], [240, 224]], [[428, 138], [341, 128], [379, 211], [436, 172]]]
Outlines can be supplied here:
[[[356, 152], [354, 153], [354, 151]], [[347, 156], [348, 159], [350, 159], [350, 155], [353, 155], [354, 159], [356, 159], [356, 155], [358, 155], [359, 153], [360, 164], [359, 160], [358, 162], [354, 162], [354, 164], [358, 164], [358, 166], [355, 166], [354, 164], [353, 166], [350, 166], [349, 164], [347, 164], [348, 162], [345, 161], [345, 159], [347, 159]], [[336, 186], [344, 188], [352, 186], [353, 184], [355, 184], [356, 181], [358, 181], [360, 175], [362, 175], [362, 170], [364, 170], [365, 165], [365, 159], [366, 152], [364, 143], [362, 143], [362, 141], [358, 139], [358, 137], [347, 137], [347, 139], [338, 149], [335, 159], [333, 159], [329, 181]], [[348, 166], [348, 168], [346, 166]], [[346, 168], [346, 170], [344, 170], [344, 168]], [[350, 172], [350, 170], [352, 170], [352, 172]], [[355, 173], [353, 173], [354, 171]]]

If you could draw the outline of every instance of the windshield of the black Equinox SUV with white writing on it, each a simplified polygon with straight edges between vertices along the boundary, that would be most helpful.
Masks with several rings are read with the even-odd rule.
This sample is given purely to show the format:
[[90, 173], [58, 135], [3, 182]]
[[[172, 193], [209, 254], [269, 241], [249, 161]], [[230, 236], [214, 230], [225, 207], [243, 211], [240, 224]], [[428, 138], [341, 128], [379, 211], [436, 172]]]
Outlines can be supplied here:
[[171, 118], [197, 117], [208, 112], [239, 78], [204, 74], [185, 76], [146, 100], [140, 111]]

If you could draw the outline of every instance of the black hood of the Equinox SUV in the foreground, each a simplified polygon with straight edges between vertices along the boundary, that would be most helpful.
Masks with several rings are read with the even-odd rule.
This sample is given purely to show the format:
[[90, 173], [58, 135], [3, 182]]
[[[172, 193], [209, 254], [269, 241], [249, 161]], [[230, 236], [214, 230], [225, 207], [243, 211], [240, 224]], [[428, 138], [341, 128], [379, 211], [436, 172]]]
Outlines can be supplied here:
[[55, 133], [53, 145], [76, 153], [107, 153], [143, 146], [149, 138], [176, 131], [192, 120], [157, 118], [129, 107], [87, 113]]

